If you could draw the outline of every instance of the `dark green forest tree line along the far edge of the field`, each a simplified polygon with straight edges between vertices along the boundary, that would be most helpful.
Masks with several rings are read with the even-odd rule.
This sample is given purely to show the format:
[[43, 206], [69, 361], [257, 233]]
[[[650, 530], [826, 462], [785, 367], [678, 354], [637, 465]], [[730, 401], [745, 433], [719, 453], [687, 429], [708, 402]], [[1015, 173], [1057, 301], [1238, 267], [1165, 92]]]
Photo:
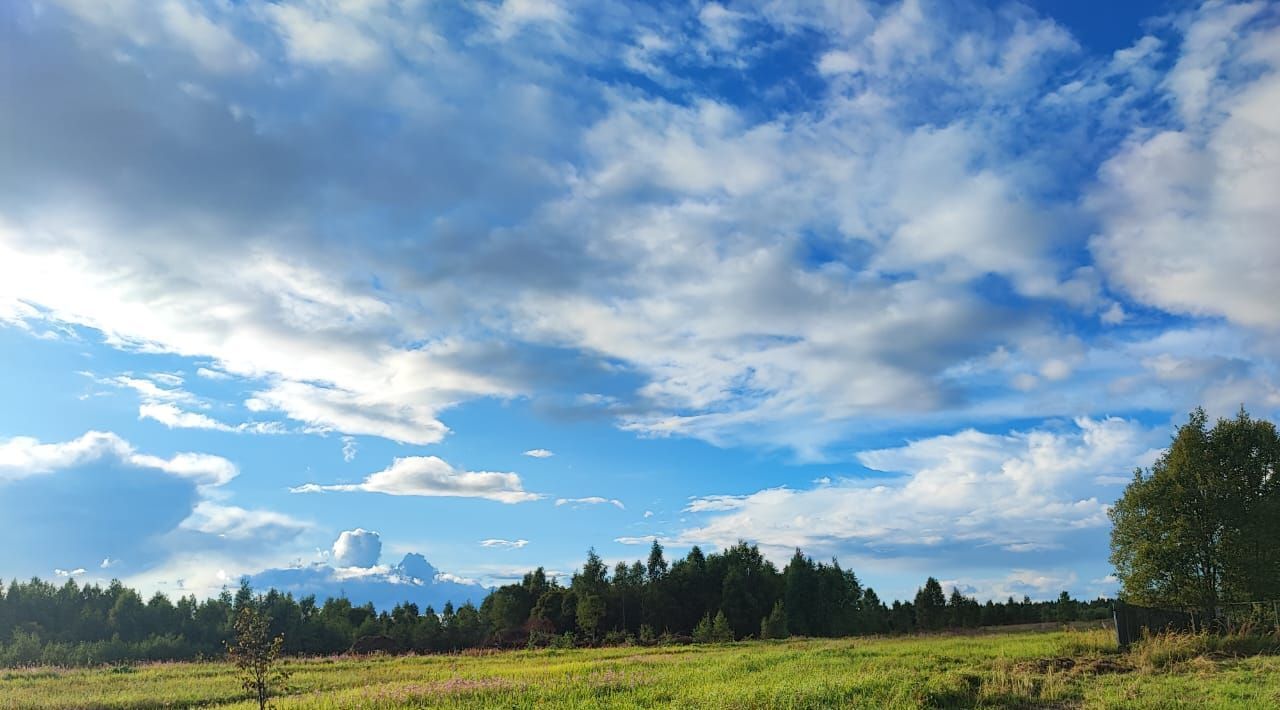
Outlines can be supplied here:
[[913, 633], [1110, 614], [1108, 600], [1078, 601], [1065, 591], [1053, 601], [980, 604], [955, 588], [946, 595], [933, 577], [913, 600], [886, 604], [838, 562], [814, 562], [800, 550], [782, 571], [746, 542], [712, 554], [695, 546], [668, 564], [654, 541], [644, 562], [611, 572], [593, 550], [567, 585], [538, 568], [493, 590], [480, 606], [439, 610], [294, 599], [255, 592], [247, 581], [234, 594], [177, 601], [164, 594], [143, 600], [120, 582], [13, 581], [0, 590], [0, 665], [221, 656], [246, 606], [268, 619], [270, 637], [283, 636], [285, 655]]

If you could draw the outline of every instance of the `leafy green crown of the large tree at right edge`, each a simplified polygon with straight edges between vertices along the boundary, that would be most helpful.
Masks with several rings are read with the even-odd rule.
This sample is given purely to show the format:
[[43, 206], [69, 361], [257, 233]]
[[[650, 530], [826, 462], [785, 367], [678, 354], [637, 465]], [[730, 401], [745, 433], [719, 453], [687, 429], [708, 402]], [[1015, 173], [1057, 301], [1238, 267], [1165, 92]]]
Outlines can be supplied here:
[[1111, 563], [1135, 604], [1213, 610], [1280, 596], [1280, 436], [1243, 409], [1192, 412], [1111, 509]]

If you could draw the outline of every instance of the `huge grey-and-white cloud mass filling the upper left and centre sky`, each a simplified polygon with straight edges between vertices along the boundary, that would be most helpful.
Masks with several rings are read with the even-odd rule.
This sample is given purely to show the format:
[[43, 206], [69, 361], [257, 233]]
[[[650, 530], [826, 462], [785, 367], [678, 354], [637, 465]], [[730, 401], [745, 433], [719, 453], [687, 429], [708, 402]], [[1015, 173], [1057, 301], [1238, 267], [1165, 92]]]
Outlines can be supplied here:
[[[111, 17], [77, 3], [76, 13], [101, 29], [128, 26], [119, 20], [140, 5], [119, 8], [128, 12]], [[609, 383], [620, 402], [599, 409], [630, 430], [819, 455], [850, 420], [965, 402], [948, 366], [1023, 327], [972, 281], [996, 274], [1027, 297], [1096, 296], [1073, 275], [1076, 265], [1061, 262], [1070, 252], [1062, 234], [1044, 226], [1069, 221], [1059, 219], [1064, 207], [1020, 187], [1052, 170], [1001, 150], [988, 113], [1030, 111], [1047, 68], [1075, 51], [1060, 27], [1029, 13], [931, 22], [914, 4], [836, 17], [709, 4], [685, 17], [511, 1], [460, 23], [426, 6], [303, 0], [202, 12], [232, 35], [278, 37], [261, 59], [298, 69], [301, 86], [324, 90], [361, 72], [361, 91], [334, 92], [340, 99], [323, 118], [294, 130], [250, 78], [221, 82], [212, 99], [179, 92], [156, 104], [143, 97], [189, 77], [104, 63], [95, 46], [38, 22], [36, 35], [14, 29], [20, 47], [38, 45], [32, 61], [56, 63], [95, 91], [13, 84], [38, 105], [6, 118], [5, 134], [22, 137], [13, 165], [27, 192], [0, 205], [0, 302], [38, 304], [49, 320], [97, 329], [123, 348], [264, 379], [247, 406], [316, 431], [430, 444], [447, 435], [442, 413], [460, 402], [572, 389], [564, 361], [506, 365], [531, 344], [643, 377], [634, 393]], [[767, 64], [764, 50], [741, 50], [771, 32], [787, 42], [831, 32], [874, 86], [833, 83], [799, 113], [703, 92], [677, 104], [599, 91], [576, 81], [582, 69], [572, 64], [620, 58], [598, 31], [581, 31], [593, 24], [584, 18], [627, 36], [645, 27], [689, 40], [677, 42], [687, 51], [648, 56], [672, 77], [682, 63], [721, 61], [717, 52], [744, 70]], [[941, 41], [956, 29], [950, 22], [969, 37], [963, 52]], [[686, 37], [690, 27], [696, 36]], [[493, 81], [511, 72], [515, 79]], [[937, 97], [946, 115], [915, 125], [910, 97], [938, 87], [947, 87]], [[975, 102], [979, 93], [998, 106]], [[874, 100], [890, 95], [902, 105]], [[47, 116], [138, 105], [155, 110], [100, 127], [84, 150], [55, 150], [74, 130]], [[370, 106], [401, 116], [401, 128], [385, 142], [342, 134]], [[200, 141], [188, 125], [202, 127]], [[440, 138], [463, 128], [502, 139], [480, 150]], [[122, 148], [136, 145], [148, 150]], [[326, 154], [333, 179], [315, 179], [316, 145], [343, 146]], [[424, 154], [438, 160], [388, 160]], [[146, 187], [129, 192], [81, 155], [129, 165]], [[189, 165], [202, 166], [196, 182], [170, 179]], [[355, 178], [369, 174], [381, 178]], [[390, 215], [388, 238], [349, 258], [320, 237], [349, 224], [337, 205]], [[461, 216], [468, 205], [476, 220]], [[396, 228], [415, 210], [438, 214], [430, 237]], [[143, 248], [175, 230], [182, 244]], [[424, 251], [435, 255], [429, 264], [404, 258]], [[495, 357], [492, 342], [518, 344], [503, 352], [517, 357]], [[219, 426], [172, 407], [147, 413]]]

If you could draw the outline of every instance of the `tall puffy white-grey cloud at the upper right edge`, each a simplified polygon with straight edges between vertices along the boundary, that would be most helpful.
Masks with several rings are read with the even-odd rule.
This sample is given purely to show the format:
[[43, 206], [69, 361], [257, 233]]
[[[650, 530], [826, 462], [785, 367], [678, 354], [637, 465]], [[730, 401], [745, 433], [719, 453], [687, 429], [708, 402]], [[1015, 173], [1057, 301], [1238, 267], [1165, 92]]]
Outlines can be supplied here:
[[[1180, 125], [1139, 127], [1100, 171], [1091, 241], [1117, 287], [1175, 313], [1280, 327], [1280, 28], [1263, 4], [1187, 18], [1165, 96]], [[1212, 244], [1212, 248], [1204, 248]]]

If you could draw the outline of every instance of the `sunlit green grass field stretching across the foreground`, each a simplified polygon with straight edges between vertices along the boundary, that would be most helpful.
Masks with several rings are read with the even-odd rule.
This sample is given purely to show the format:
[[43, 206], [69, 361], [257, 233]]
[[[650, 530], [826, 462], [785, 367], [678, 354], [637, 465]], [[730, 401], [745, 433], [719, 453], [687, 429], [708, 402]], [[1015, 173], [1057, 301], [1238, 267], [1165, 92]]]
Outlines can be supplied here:
[[[1230, 651], [1230, 650], [1228, 650]], [[1280, 656], [1020, 632], [294, 660], [278, 707], [1280, 707]], [[252, 707], [223, 663], [0, 670], [0, 707]]]

